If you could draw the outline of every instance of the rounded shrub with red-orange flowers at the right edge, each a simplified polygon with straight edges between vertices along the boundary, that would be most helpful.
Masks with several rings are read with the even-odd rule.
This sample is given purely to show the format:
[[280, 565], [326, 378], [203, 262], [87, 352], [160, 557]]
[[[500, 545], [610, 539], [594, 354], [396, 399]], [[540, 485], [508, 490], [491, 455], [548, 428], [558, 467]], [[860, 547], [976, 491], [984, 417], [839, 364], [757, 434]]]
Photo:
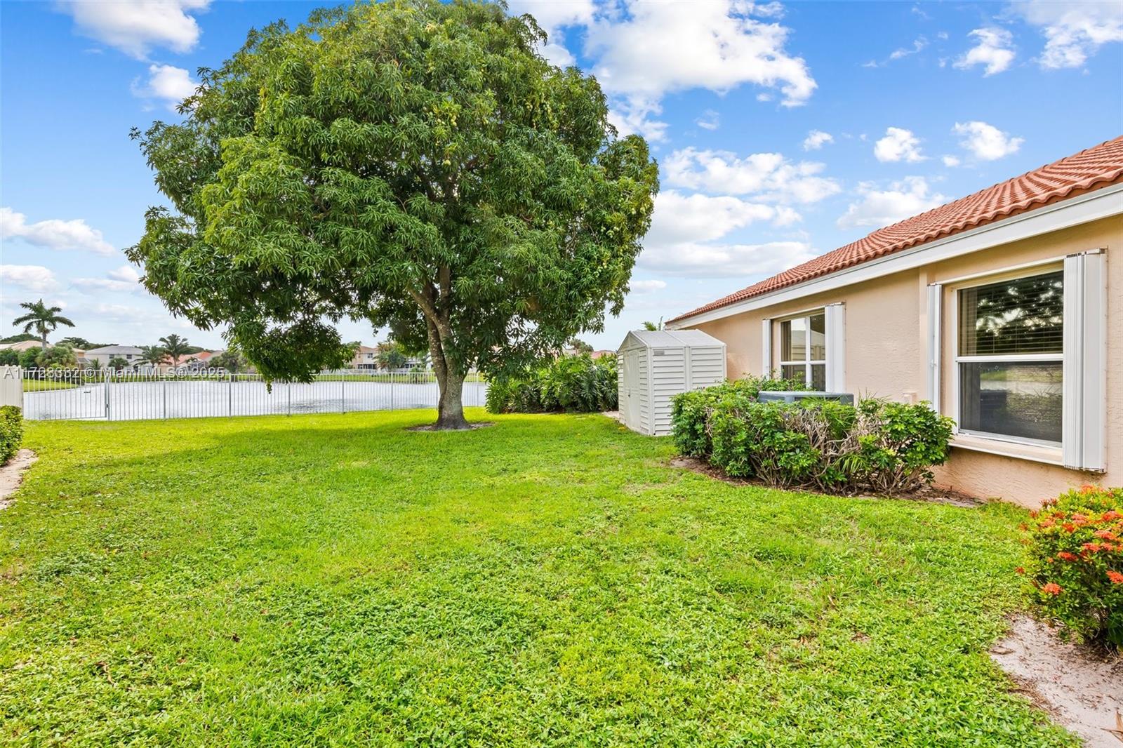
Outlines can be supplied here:
[[1020, 572], [1037, 602], [1077, 638], [1123, 648], [1123, 489], [1085, 485], [1031, 517]]

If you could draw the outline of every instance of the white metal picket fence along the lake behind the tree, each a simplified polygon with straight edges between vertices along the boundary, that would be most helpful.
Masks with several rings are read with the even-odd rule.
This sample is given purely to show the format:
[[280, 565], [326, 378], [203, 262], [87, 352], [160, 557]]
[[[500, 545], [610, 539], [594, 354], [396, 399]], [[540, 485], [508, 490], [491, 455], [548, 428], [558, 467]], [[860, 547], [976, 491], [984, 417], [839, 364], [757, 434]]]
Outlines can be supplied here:
[[[464, 383], [464, 404], [483, 405], [487, 384]], [[437, 377], [423, 373], [321, 372], [311, 382], [273, 382], [220, 370], [24, 371], [24, 418], [131, 421], [276, 413], [346, 413], [436, 408]]]

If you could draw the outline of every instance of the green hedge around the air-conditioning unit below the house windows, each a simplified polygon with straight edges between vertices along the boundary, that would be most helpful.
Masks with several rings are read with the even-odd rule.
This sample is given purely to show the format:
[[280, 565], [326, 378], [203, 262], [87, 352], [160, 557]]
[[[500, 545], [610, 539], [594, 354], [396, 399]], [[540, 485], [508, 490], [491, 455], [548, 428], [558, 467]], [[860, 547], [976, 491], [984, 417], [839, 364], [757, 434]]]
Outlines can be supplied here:
[[730, 382], [674, 399], [679, 451], [727, 475], [827, 493], [902, 493], [932, 480], [948, 458], [951, 420], [926, 404], [867, 399], [759, 402], [760, 390], [789, 382]]

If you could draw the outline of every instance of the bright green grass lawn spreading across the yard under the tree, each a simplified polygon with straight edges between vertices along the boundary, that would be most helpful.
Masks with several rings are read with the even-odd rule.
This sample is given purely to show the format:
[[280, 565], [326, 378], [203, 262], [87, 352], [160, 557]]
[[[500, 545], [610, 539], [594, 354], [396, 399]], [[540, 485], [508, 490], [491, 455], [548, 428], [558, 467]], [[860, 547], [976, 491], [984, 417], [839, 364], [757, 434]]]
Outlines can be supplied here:
[[739, 487], [601, 416], [29, 423], [9, 745], [1075, 746], [1021, 510]]

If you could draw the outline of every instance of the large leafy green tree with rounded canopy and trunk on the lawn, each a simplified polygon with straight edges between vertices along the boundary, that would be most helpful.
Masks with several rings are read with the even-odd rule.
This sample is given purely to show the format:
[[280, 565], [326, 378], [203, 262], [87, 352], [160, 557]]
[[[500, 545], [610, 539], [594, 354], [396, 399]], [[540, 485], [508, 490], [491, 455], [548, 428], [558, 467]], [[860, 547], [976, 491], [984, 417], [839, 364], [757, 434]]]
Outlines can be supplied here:
[[521, 370], [619, 313], [658, 170], [600, 85], [494, 3], [389, 0], [253, 31], [136, 134], [174, 210], [128, 250], [168, 309], [270, 378], [349, 355], [336, 322], [428, 348], [438, 426], [473, 366]]

